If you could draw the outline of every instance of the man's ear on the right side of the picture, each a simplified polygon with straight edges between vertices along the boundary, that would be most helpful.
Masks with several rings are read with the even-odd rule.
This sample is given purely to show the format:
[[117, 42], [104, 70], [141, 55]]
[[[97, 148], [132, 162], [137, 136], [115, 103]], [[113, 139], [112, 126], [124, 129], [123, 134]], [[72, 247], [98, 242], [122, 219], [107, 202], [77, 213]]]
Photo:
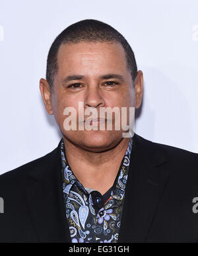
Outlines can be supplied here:
[[139, 108], [141, 106], [142, 99], [143, 99], [143, 72], [141, 70], [137, 72], [137, 75], [134, 81], [134, 86], [135, 86], [135, 99], [136, 99], [135, 108]]

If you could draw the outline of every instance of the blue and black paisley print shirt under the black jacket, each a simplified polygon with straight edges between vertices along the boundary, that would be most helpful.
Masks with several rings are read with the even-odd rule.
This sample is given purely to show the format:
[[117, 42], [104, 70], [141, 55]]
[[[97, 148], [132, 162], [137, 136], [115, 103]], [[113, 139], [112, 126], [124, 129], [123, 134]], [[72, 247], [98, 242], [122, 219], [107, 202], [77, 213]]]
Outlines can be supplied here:
[[67, 162], [62, 139], [63, 196], [72, 243], [117, 242], [132, 142], [130, 138], [129, 146], [110, 190], [110, 196], [104, 202], [100, 192], [84, 188], [75, 177]]

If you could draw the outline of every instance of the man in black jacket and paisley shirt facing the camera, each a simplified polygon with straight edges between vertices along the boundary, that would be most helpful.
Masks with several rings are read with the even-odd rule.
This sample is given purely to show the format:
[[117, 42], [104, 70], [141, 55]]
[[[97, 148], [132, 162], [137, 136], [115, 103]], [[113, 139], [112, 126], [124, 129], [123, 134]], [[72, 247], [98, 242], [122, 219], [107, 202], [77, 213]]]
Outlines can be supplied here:
[[[143, 73], [117, 30], [77, 22], [59, 34], [48, 54], [40, 91], [63, 138], [44, 157], [0, 177], [0, 241], [190, 242], [198, 239], [197, 155], [134, 134], [65, 128], [73, 107], [139, 108]], [[83, 116], [84, 117], [84, 116]], [[127, 112], [129, 121], [129, 111]], [[94, 118], [92, 127], [108, 118]], [[126, 131], [126, 130], [125, 130]]]

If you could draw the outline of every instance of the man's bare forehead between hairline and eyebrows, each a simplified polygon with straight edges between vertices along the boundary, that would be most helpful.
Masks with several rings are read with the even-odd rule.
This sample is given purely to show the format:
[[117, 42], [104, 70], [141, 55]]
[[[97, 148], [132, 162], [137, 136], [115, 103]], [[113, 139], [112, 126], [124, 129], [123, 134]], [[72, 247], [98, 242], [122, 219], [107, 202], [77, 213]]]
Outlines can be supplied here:
[[[79, 42], [61, 44], [57, 54], [59, 72], [83, 69], [83, 71], [126, 71], [125, 51], [121, 44], [112, 42]], [[107, 71], [107, 70], [106, 70]]]

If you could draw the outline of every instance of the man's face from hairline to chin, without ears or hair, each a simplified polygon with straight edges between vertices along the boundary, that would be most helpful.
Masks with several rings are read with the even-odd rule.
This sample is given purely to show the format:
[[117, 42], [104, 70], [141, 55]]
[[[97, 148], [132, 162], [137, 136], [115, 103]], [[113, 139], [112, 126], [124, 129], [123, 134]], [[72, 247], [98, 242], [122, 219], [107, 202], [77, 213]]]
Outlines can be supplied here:
[[[123, 130], [70, 130], [64, 129], [67, 107], [77, 110], [79, 102], [95, 108], [100, 117], [100, 107], [135, 107], [135, 89], [131, 73], [127, 69], [125, 52], [121, 44], [110, 42], [79, 42], [62, 44], [57, 54], [58, 71], [54, 77], [51, 93], [51, 112], [63, 136], [89, 151], [104, 151], [116, 146]], [[48, 111], [49, 112], [49, 111]], [[88, 116], [84, 116], [86, 120]]]

